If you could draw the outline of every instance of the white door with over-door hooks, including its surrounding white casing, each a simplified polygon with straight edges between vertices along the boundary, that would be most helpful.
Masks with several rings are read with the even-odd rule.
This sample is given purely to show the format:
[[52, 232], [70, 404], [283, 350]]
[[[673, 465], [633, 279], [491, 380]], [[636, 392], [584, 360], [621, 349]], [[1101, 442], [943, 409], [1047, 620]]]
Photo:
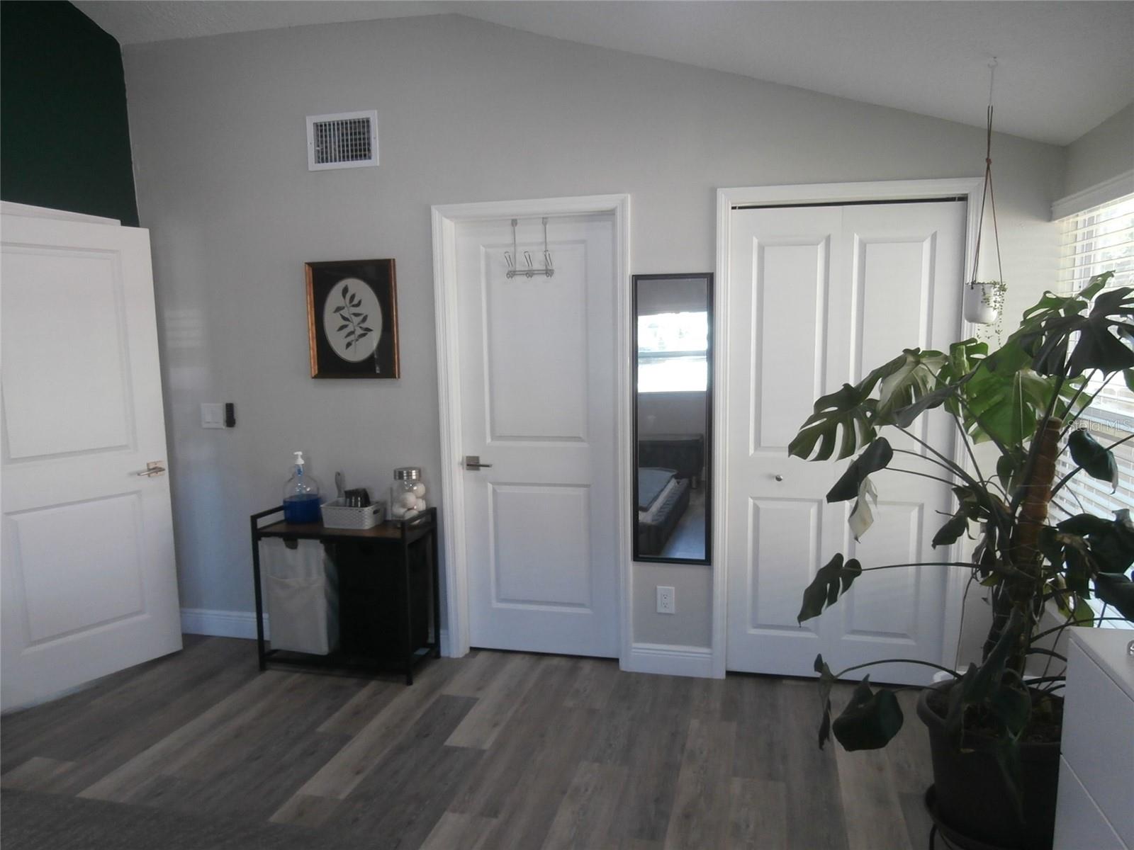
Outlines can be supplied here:
[[[555, 277], [508, 280], [510, 219], [539, 267], [544, 215]], [[433, 222], [445, 652], [625, 657], [628, 197], [441, 206]]]

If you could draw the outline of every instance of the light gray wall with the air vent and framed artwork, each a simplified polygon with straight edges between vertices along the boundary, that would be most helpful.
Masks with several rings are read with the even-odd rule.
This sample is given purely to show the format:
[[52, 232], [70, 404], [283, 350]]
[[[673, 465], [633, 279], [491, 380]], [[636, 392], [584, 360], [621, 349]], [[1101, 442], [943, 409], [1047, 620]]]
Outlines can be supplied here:
[[[181, 604], [251, 610], [247, 516], [290, 452], [439, 481], [431, 204], [628, 192], [632, 271], [711, 270], [722, 186], [979, 175], [984, 131], [459, 16], [128, 46]], [[304, 116], [376, 109], [381, 165], [308, 172]], [[997, 136], [1009, 312], [1053, 280], [1063, 150]], [[395, 257], [400, 381], [307, 377], [303, 263]], [[200, 427], [235, 401], [238, 426]], [[433, 495], [435, 495], [435, 488]], [[636, 568], [635, 639], [708, 645], [710, 571]], [[676, 615], [653, 611], [677, 588]]]

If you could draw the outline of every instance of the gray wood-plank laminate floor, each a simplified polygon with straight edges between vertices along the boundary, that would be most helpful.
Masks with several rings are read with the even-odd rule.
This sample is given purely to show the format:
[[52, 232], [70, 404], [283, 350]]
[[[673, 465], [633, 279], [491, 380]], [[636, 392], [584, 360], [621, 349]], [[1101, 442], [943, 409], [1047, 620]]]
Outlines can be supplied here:
[[99, 847], [94, 819], [117, 817], [142, 843], [107, 847], [174, 845], [163, 830], [208, 847], [185, 838], [206, 817], [213, 835], [270, 835], [248, 847], [920, 849], [929, 753], [902, 696], [888, 749], [820, 751], [806, 681], [481, 651], [428, 663], [407, 688], [260, 673], [252, 641], [187, 636], [176, 655], [3, 717], [0, 788], [19, 805], [0, 838]]

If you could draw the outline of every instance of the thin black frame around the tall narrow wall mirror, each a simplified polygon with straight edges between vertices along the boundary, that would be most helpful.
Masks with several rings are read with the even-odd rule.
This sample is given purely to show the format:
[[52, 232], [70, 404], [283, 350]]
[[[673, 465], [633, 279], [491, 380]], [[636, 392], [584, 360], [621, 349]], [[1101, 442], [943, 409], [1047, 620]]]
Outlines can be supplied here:
[[[638, 340], [637, 340], [637, 288], [640, 281], [649, 280], [689, 280], [689, 279], [701, 279], [705, 282], [705, 311], [709, 314], [709, 338], [708, 338], [708, 352], [706, 359], [709, 365], [709, 374], [705, 379], [705, 476], [704, 476], [704, 492], [705, 492], [705, 555], [704, 558], [660, 558], [658, 555], [643, 555], [638, 553], [638, 391], [637, 391], [637, 362], [638, 362]], [[633, 459], [633, 469], [631, 470], [631, 478], [633, 479], [633, 502], [631, 504], [633, 521], [631, 527], [633, 530], [632, 541], [632, 558], [638, 563], [689, 563], [697, 566], [708, 566], [712, 563], [712, 529], [713, 529], [713, 501], [712, 491], [714, 485], [713, 478], [713, 379], [717, 372], [717, 347], [714, 340], [714, 324], [717, 316], [713, 309], [713, 273], [712, 272], [692, 272], [687, 274], [632, 274], [631, 275], [631, 403], [632, 403], [632, 430], [631, 439], [634, 441], [634, 450], [631, 452]]]

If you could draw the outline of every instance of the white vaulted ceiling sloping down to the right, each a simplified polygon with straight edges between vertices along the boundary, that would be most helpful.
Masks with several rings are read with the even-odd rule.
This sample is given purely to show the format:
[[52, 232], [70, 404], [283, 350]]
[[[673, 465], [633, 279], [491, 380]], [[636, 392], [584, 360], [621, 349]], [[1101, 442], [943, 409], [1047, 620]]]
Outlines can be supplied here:
[[[459, 14], [1068, 144], [1134, 99], [1134, 2], [76, 0], [122, 44]], [[1132, 141], [1134, 143], [1134, 141]]]

